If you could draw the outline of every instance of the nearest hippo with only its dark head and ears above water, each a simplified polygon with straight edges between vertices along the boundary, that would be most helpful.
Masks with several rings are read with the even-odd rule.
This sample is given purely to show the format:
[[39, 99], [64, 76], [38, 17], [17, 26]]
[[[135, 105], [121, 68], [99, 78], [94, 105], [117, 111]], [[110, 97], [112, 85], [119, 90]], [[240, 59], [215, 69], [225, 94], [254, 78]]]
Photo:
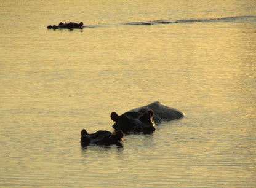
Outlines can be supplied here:
[[121, 130], [116, 131], [115, 134], [110, 131], [99, 130], [96, 133], [89, 134], [85, 129], [81, 131], [81, 146], [86, 147], [89, 144], [99, 144], [104, 146], [109, 146], [111, 144], [116, 144], [117, 146], [122, 146], [120, 141], [124, 137], [124, 133]]

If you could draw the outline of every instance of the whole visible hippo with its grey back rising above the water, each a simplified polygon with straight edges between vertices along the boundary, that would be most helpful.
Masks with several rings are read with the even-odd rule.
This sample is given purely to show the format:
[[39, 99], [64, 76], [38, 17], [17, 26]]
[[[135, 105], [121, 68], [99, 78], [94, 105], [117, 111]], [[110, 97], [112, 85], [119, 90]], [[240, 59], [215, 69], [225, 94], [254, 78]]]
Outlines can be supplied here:
[[177, 109], [154, 102], [140, 108], [132, 109], [121, 116], [112, 112], [110, 117], [115, 122], [113, 128], [124, 133], [142, 132], [153, 133], [156, 130], [155, 123], [166, 122], [184, 117], [185, 114]]

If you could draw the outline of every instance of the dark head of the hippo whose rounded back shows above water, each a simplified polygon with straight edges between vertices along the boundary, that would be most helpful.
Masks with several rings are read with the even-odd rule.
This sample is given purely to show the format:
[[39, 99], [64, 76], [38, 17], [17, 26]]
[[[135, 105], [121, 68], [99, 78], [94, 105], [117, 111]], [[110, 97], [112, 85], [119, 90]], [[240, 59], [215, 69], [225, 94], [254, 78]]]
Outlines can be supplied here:
[[145, 134], [152, 133], [156, 130], [153, 121], [154, 112], [150, 109], [144, 113], [126, 112], [118, 116], [116, 112], [112, 112], [110, 117], [115, 122], [113, 128], [122, 130], [124, 133], [143, 132]]

